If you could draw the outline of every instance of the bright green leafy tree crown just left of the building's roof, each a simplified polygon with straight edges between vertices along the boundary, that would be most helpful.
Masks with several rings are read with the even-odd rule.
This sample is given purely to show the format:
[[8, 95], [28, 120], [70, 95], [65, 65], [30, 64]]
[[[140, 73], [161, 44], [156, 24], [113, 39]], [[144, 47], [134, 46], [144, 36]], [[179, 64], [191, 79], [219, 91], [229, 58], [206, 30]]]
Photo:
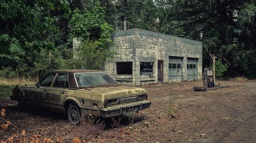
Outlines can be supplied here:
[[91, 12], [87, 9], [82, 12], [75, 9], [70, 21], [70, 41], [77, 37], [80, 41], [88, 39], [98, 41], [102, 48], [113, 45], [110, 39], [113, 28], [104, 20], [104, 17], [105, 7], [101, 7], [99, 2], [95, 3]]

